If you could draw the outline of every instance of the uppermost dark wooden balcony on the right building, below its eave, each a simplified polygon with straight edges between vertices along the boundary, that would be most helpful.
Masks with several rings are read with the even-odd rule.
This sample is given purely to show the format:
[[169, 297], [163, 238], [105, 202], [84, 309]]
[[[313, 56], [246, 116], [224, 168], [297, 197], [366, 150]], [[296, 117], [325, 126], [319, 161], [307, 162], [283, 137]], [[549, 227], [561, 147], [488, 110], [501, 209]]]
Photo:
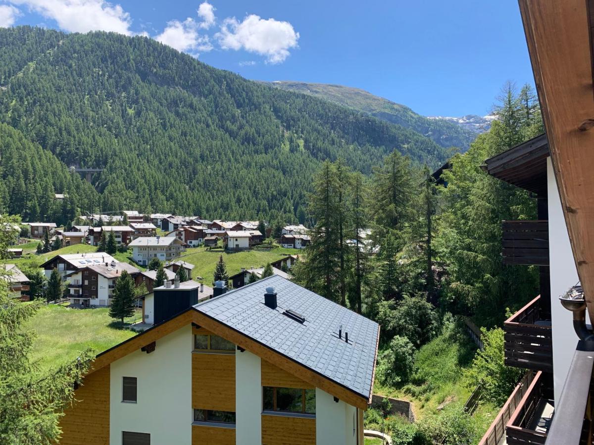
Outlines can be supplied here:
[[504, 264], [549, 265], [549, 222], [503, 221]]

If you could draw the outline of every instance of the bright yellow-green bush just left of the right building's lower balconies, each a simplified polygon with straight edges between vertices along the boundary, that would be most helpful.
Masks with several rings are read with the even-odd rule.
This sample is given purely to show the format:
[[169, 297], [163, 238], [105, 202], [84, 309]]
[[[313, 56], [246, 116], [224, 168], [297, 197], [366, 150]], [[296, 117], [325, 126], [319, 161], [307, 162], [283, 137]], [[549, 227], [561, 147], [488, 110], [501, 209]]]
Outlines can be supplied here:
[[466, 376], [470, 384], [475, 386], [482, 382], [485, 400], [503, 405], [522, 377], [523, 371], [505, 365], [503, 329], [482, 328], [481, 332], [484, 348], [477, 352]]

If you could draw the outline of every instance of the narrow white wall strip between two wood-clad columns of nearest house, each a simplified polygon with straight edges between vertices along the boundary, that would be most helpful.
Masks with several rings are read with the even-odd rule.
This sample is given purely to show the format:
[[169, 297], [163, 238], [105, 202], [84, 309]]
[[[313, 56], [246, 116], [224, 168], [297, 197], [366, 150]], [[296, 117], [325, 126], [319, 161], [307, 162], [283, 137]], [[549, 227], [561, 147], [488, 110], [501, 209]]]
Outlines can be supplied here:
[[262, 443], [261, 361], [249, 351], [235, 353], [235, 440]]

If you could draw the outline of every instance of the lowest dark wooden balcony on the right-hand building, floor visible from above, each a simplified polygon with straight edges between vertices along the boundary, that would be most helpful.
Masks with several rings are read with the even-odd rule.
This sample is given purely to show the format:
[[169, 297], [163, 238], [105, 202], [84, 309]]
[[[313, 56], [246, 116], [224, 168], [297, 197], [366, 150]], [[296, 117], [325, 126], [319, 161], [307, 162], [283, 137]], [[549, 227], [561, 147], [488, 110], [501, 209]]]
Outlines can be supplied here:
[[552, 381], [539, 371], [527, 388], [507, 425], [508, 445], [544, 445], [554, 413]]

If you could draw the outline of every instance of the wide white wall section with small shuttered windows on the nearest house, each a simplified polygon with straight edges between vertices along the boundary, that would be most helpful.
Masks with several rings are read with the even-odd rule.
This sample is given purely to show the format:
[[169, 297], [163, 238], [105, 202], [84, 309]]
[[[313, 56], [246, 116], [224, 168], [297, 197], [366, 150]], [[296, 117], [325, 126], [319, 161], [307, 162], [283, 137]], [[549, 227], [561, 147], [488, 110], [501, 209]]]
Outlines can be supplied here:
[[[110, 366], [109, 443], [122, 431], [149, 433], [151, 443], [192, 443], [192, 328], [157, 340], [147, 354], [138, 349]], [[137, 403], [122, 403], [122, 377], [137, 377]]]

